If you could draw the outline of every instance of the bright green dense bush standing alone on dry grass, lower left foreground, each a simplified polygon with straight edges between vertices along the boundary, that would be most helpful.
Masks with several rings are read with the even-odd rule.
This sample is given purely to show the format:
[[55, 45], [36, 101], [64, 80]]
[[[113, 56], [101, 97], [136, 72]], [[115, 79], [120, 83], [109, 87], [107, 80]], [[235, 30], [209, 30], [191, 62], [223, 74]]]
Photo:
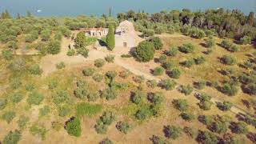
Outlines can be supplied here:
[[75, 137], [80, 137], [82, 133], [80, 119], [76, 117], [70, 118], [70, 120], [66, 122], [65, 129], [68, 134]]

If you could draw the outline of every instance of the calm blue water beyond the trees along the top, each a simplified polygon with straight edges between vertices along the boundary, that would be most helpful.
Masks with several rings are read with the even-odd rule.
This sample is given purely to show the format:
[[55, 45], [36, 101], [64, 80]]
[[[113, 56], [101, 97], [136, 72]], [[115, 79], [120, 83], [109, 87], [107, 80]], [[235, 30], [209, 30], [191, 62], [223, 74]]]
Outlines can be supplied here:
[[[38, 16], [75, 16], [78, 14], [101, 15], [127, 10], [145, 10], [149, 13], [160, 10], [206, 10], [209, 8], [239, 9], [245, 14], [256, 12], [256, 0], [0, 0], [0, 11], [25, 14], [30, 10]], [[37, 12], [37, 10], [42, 10]]]

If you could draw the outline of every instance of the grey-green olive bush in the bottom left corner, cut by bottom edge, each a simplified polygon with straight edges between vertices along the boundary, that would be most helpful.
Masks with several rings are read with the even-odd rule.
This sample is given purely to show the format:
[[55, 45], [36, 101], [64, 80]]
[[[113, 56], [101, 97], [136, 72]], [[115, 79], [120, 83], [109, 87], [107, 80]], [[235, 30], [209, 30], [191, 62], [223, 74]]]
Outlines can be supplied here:
[[18, 130], [15, 130], [14, 132], [10, 131], [3, 139], [2, 144], [18, 144], [21, 137], [22, 137], [22, 134], [20, 131]]

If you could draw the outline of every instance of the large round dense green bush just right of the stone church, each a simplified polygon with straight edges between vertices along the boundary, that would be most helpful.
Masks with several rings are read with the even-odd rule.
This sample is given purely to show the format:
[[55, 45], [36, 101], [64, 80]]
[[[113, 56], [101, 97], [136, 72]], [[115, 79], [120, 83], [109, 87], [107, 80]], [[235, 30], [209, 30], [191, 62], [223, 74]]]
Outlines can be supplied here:
[[154, 58], [154, 45], [151, 42], [140, 42], [134, 51], [138, 62], [149, 62]]

